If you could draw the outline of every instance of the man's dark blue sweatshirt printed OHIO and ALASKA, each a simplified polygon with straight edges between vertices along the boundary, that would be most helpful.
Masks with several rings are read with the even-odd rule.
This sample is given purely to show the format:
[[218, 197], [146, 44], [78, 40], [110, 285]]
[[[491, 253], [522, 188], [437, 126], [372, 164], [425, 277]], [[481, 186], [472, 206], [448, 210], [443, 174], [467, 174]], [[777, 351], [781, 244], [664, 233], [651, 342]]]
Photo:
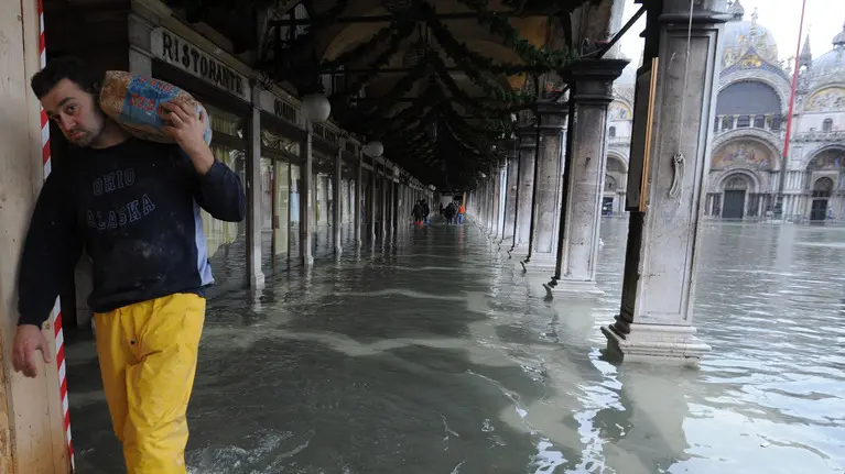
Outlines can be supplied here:
[[74, 150], [39, 196], [21, 257], [21, 324], [41, 324], [82, 254], [94, 263], [96, 312], [214, 283], [199, 208], [243, 220], [240, 177], [220, 162], [201, 176], [177, 145], [130, 139]]

